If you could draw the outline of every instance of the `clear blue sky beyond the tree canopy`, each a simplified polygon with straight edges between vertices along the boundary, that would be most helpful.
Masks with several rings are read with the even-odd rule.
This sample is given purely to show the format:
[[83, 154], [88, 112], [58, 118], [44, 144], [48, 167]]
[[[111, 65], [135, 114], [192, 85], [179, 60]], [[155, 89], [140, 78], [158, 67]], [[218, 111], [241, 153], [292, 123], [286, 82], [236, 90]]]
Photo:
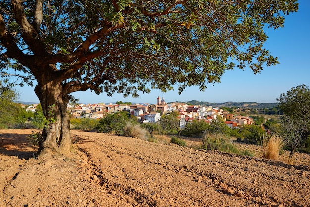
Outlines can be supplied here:
[[[111, 103], [128, 101], [137, 103], [156, 103], [157, 97], [166, 102], [173, 101], [207, 101], [207, 102], [277, 102], [281, 93], [286, 93], [292, 87], [305, 84], [310, 86], [310, 0], [299, 0], [299, 11], [286, 16], [283, 28], [266, 30], [269, 36], [265, 48], [280, 64], [264, 68], [260, 74], [252, 70], [235, 69], [227, 71], [221, 78], [221, 83], [210, 84], [204, 92], [197, 87], [189, 87], [178, 94], [177, 89], [162, 93], [153, 90], [150, 94], [140, 94], [139, 98], [123, 98], [122, 94], [112, 97], [105, 93], [96, 95], [88, 91], [76, 92], [72, 95], [80, 103]], [[16, 88], [20, 93], [20, 101], [38, 102], [34, 88], [24, 86]]]

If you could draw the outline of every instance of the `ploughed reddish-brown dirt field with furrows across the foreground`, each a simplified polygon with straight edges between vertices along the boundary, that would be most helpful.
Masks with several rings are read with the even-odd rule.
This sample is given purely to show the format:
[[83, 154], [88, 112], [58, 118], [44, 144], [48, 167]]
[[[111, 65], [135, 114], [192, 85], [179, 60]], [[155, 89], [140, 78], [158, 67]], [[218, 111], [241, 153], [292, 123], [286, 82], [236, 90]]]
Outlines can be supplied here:
[[0, 207], [310, 207], [307, 154], [287, 165], [253, 145], [238, 145], [251, 158], [72, 130], [69, 157], [38, 160], [31, 132], [0, 130]]

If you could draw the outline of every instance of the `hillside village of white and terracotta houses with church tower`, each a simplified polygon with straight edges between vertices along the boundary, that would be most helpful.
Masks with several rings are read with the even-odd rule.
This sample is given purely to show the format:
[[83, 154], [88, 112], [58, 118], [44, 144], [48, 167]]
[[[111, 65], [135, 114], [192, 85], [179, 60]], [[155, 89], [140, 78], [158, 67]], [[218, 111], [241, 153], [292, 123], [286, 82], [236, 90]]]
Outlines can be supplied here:
[[[35, 112], [37, 104], [30, 105], [26, 111]], [[75, 106], [68, 105], [68, 111], [75, 118], [101, 119], [108, 113], [119, 111], [127, 111], [132, 116], [137, 117], [141, 123], [156, 123], [160, 120], [162, 114], [172, 111], [179, 113], [180, 127], [184, 128], [186, 124], [191, 123], [194, 119], [204, 120], [210, 123], [212, 120], [221, 117], [225, 124], [230, 128], [238, 125], [254, 124], [250, 117], [234, 116], [220, 108], [212, 106], [188, 105], [186, 103], [169, 103], [164, 98], [157, 98], [157, 104], [77, 104]]]

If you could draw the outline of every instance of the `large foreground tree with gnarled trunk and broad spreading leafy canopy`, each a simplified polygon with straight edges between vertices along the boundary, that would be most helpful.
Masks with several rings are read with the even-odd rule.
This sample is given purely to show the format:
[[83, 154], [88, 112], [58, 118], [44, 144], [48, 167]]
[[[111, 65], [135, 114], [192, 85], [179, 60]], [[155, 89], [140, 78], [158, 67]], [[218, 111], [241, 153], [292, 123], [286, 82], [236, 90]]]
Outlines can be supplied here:
[[277, 63], [264, 27], [282, 27], [283, 14], [297, 10], [297, 0], [2, 0], [0, 75], [36, 84], [54, 120], [41, 156], [66, 154], [71, 93], [203, 90], [235, 65], [258, 73]]

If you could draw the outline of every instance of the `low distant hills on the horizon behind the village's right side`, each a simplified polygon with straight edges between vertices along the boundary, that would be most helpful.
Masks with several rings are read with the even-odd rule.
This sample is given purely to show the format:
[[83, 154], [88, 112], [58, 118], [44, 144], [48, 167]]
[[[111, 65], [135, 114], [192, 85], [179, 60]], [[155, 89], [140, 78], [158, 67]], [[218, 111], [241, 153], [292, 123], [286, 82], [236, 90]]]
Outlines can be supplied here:
[[[182, 102], [184, 101], [175, 101], [176, 102]], [[273, 108], [277, 107], [278, 103], [257, 103], [257, 102], [233, 102], [233, 101], [228, 101], [224, 103], [211, 103], [207, 101], [197, 101], [197, 100], [191, 100], [191, 101], [186, 101], [185, 103], [191, 104], [191, 105], [199, 105], [199, 106], [213, 106], [213, 107], [237, 107], [237, 108]]]

